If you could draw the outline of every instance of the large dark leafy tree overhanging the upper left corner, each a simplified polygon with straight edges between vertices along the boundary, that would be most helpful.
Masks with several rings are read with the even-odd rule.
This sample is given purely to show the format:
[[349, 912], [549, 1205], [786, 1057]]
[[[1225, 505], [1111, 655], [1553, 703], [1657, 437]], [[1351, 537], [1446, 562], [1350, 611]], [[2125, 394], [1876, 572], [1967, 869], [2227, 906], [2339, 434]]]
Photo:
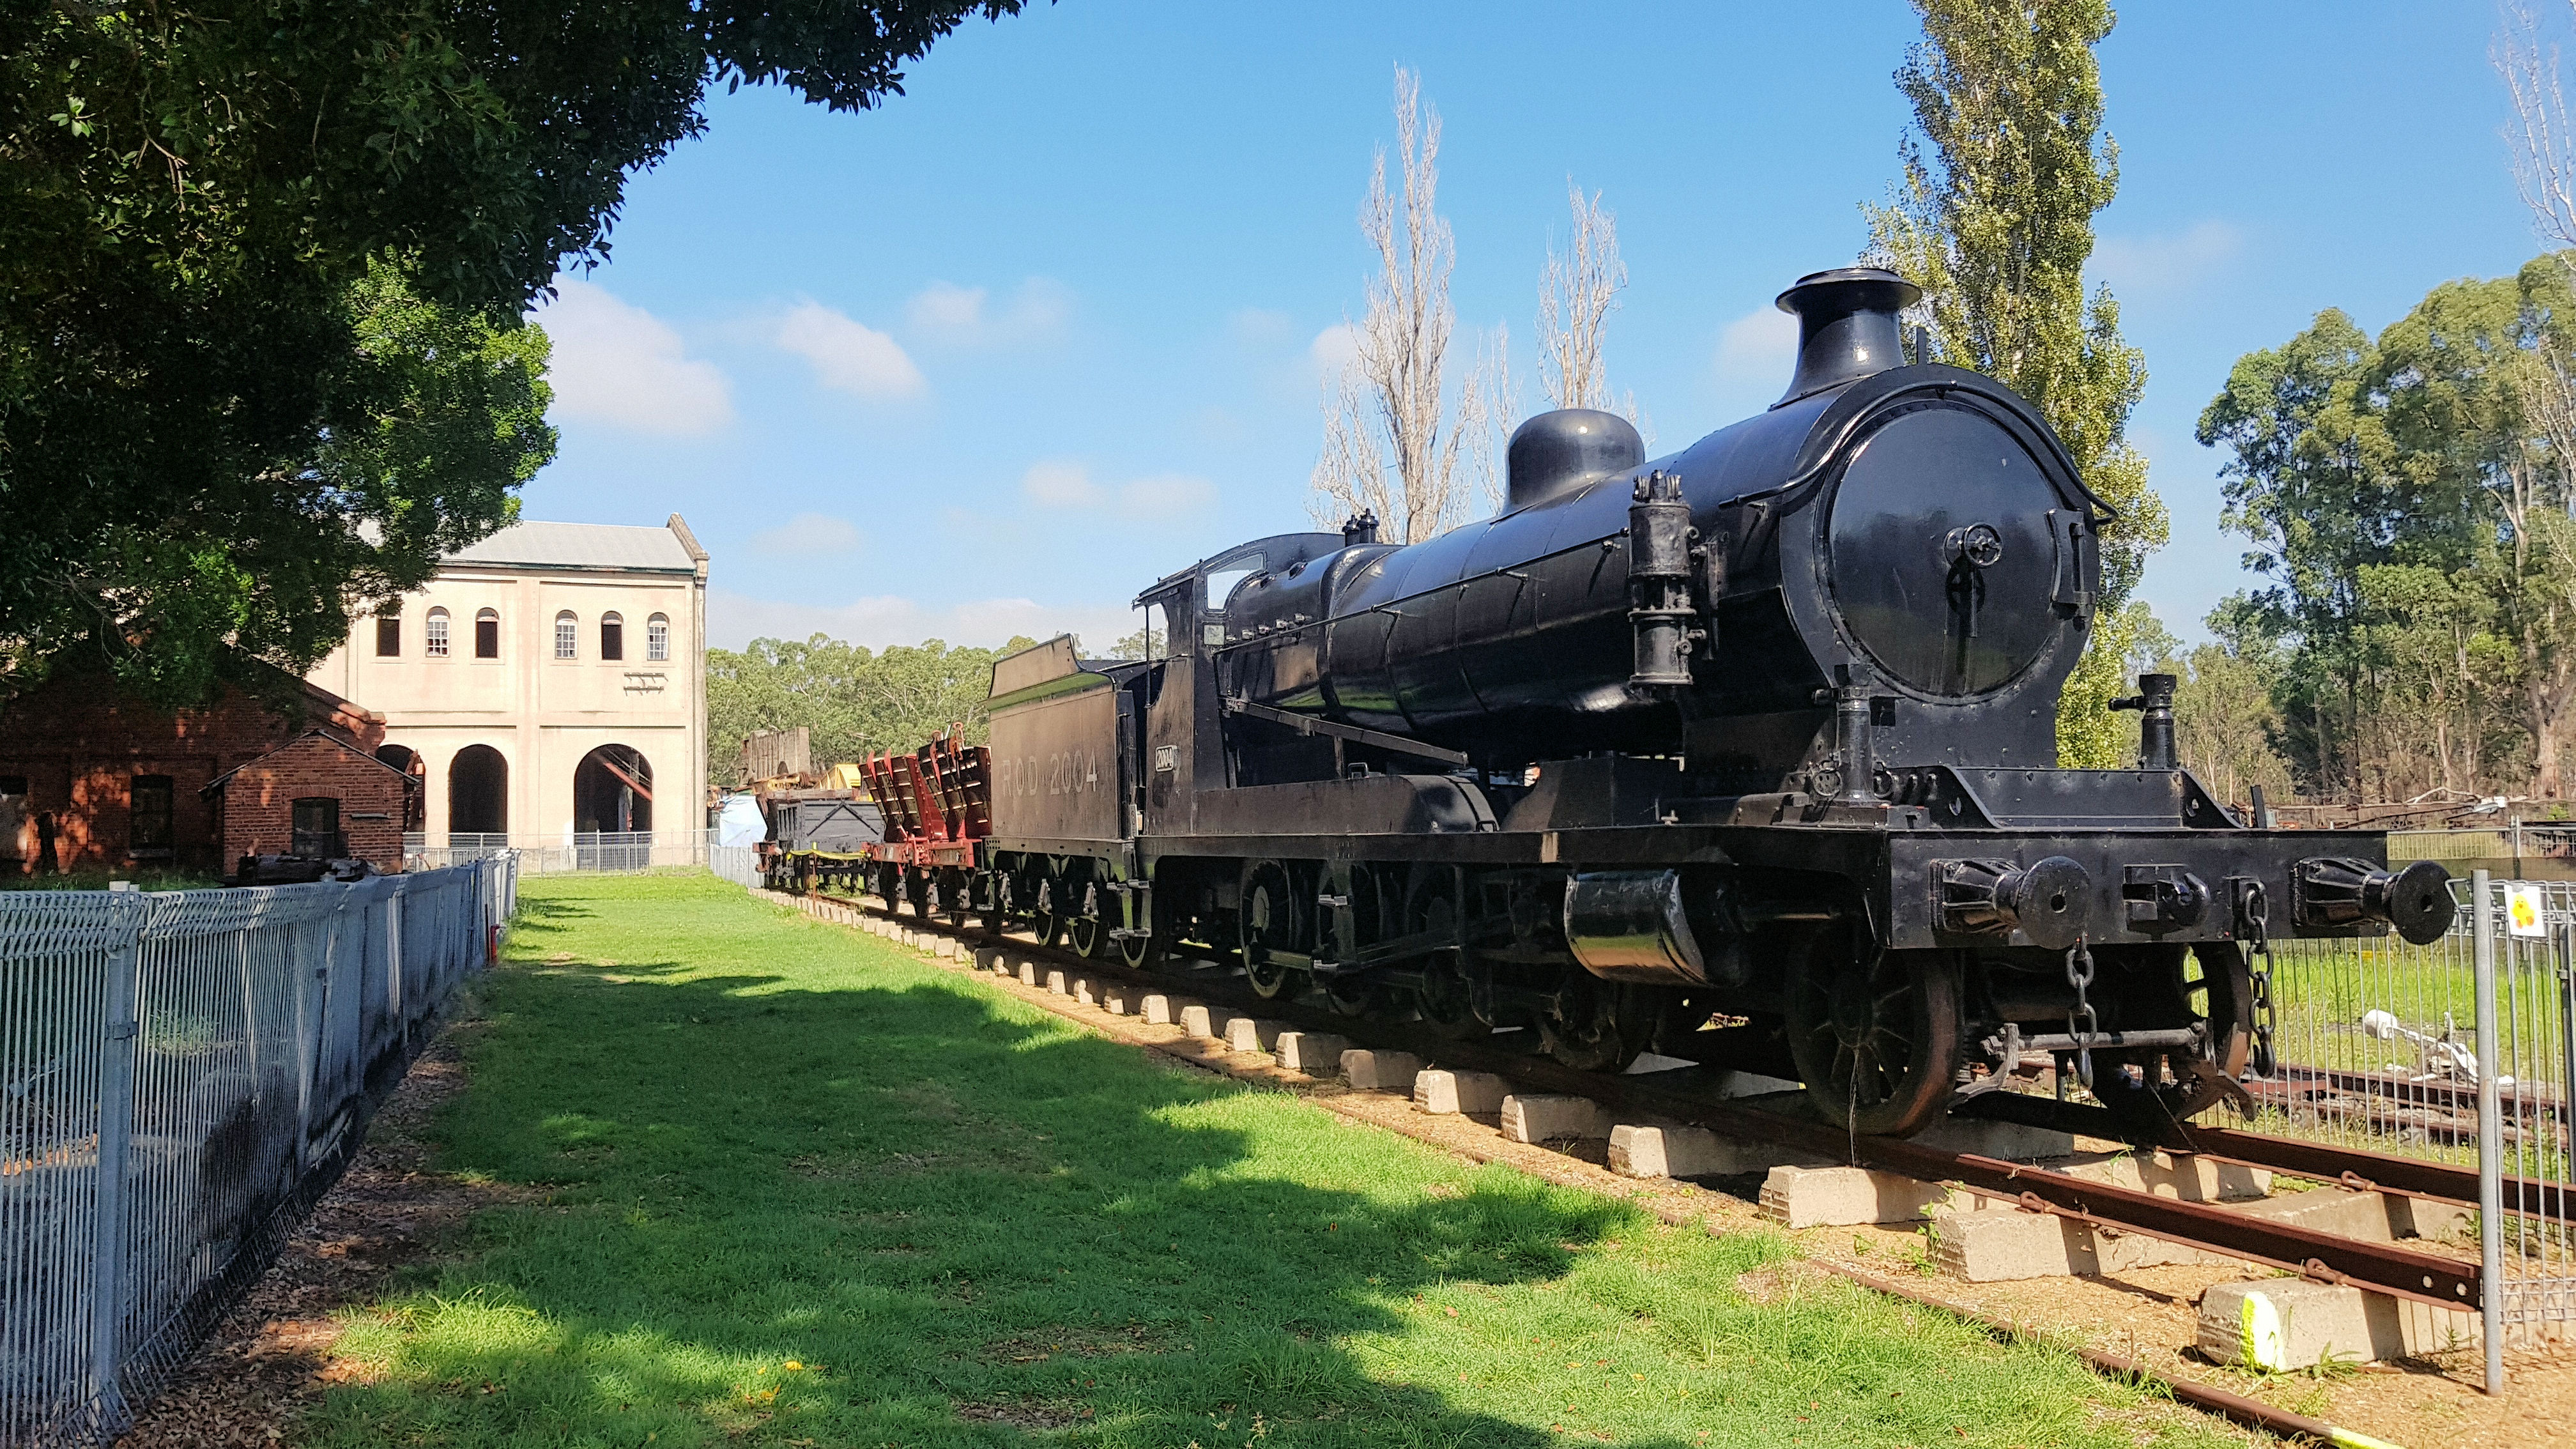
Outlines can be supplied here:
[[520, 315], [706, 85], [873, 106], [1020, 3], [0, 8], [0, 683], [301, 673], [507, 521]]

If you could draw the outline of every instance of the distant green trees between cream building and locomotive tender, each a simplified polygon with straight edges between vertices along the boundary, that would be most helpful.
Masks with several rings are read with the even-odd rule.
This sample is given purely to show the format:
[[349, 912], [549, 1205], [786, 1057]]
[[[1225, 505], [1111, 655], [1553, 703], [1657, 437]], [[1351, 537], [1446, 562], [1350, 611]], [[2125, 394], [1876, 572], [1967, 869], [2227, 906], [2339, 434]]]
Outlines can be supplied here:
[[1030, 645], [1036, 639], [976, 650], [927, 639], [871, 652], [814, 634], [804, 642], [752, 639], [742, 650], [708, 650], [708, 779], [739, 776], [742, 740], [752, 732], [799, 724], [811, 732], [817, 768], [878, 750], [920, 750], [951, 724], [981, 745], [992, 737], [992, 717], [984, 712], [992, 665]]

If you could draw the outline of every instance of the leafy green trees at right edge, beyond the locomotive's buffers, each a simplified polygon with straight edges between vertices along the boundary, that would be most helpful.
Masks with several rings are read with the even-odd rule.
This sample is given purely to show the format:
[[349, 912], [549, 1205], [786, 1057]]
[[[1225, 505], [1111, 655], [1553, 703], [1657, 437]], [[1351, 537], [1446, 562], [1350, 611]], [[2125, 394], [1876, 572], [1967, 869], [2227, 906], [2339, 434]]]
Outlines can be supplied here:
[[2239, 358], [2202, 413], [2231, 451], [2223, 521], [2267, 578], [2241, 611], [2290, 642], [2282, 740], [2313, 789], [2483, 789], [2512, 763], [2563, 792], [2571, 307], [2561, 258], [2537, 258], [2437, 286], [2375, 340], [2329, 309]]

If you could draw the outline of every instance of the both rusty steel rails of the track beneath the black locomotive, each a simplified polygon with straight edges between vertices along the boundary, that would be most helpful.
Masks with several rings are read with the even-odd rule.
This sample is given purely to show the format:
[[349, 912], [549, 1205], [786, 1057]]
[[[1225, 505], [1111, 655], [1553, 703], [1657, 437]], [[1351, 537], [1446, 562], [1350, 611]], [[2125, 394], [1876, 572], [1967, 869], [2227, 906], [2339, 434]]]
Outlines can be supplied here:
[[[781, 900], [796, 897], [781, 895]], [[1705, 1127], [1721, 1137], [1741, 1142], [1765, 1142], [1927, 1183], [1955, 1183], [1973, 1194], [2014, 1201], [2027, 1212], [2045, 1212], [2084, 1222], [2087, 1227], [2138, 1232], [2282, 1269], [2306, 1279], [2349, 1284], [2365, 1292], [2442, 1310], [2476, 1312], [2481, 1307], [2483, 1284], [2478, 1263], [2473, 1261], [2427, 1253], [2398, 1243], [2367, 1243], [2318, 1232], [2313, 1227], [2267, 1222], [2228, 1207], [2136, 1191], [2117, 1183], [2079, 1178], [2045, 1165], [2012, 1163], [1978, 1152], [1953, 1152], [1896, 1137], [1852, 1134], [1842, 1127], [1793, 1111], [1770, 1111], [1762, 1106], [1723, 1101], [1716, 1096], [1721, 1073], [1705, 1067], [1677, 1067], [1643, 1075], [1584, 1073], [1548, 1057], [1515, 1052], [1492, 1042], [1458, 1042], [1422, 1031], [1412, 1024], [1342, 1016], [1306, 1000], [1265, 1000], [1244, 985], [1239, 967], [1221, 959], [1172, 957], [1162, 969], [1136, 969], [1115, 959], [1103, 962], [1064, 946], [1043, 946], [1030, 936], [994, 936], [979, 926], [953, 926], [925, 915], [896, 915], [866, 908], [855, 900], [832, 902], [871, 918], [896, 920], [912, 931], [951, 936], [969, 949], [1002, 946], [1018, 957], [1030, 957], [1103, 982], [1151, 985], [1185, 993], [1195, 1000], [1278, 1021], [1291, 1029], [1342, 1036], [1358, 1047], [1412, 1052], [1425, 1062], [1437, 1062], [1453, 1070], [1492, 1073], [1533, 1091], [1584, 1096], [1638, 1119]], [[2112, 1116], [2102, 1109], [2004, 1091], [1968, 1098], [1963, 1116], [2022, 1122], [2081, 1137], [2123, 1137]], [[2476, 1207], [2478, 1199], [2476, 1173], [2383, 1152], [2184, 1124], [2177, 1124], [2169, 1132], [2169, 1140], [2159, 1145], [2169, 1152], [2197, 1152], [2210, 1160], [2267, 1168], [2357, 1191], [2388, 1191], [2468, 1207]], [[2506, 1178], [2506, 1212], [2540, 1212], [2540, 1183]]]

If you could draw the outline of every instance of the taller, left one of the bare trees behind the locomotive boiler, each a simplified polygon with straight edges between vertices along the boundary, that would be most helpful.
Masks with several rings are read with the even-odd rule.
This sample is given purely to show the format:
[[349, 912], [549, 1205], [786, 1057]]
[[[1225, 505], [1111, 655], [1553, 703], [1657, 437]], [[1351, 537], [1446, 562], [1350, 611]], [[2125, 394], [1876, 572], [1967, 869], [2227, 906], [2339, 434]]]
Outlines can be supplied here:
[[1450, 418], [1445, 366], [1455, 312], [1455, 263], [1440, 219], [1440, 113], [1422, 106], [1422, 77], [1396, 67], [1396, 160], [1401, 201], [1386, 188], [1386, 150], [1368, 175], [1360, 232], [1378, 253], [1350, 364], [1324, 384], [1324, 449], [1314, 464], [1319, 523], [1370, 511], [1386, 539], [1430, 539], [1458, 511], [1466, 441], [1484, 425], [1489, 387], [1468, 376]]

